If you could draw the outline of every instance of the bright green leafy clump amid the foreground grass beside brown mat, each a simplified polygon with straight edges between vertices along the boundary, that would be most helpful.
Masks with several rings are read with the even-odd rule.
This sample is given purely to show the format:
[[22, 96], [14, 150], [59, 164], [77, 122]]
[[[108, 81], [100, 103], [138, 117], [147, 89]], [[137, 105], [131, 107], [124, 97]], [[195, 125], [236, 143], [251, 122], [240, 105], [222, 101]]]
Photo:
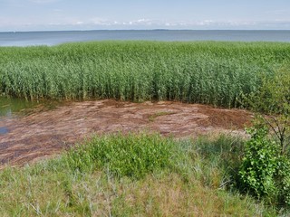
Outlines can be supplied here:
[[121, 134], [93, 137], [85, 146], [73, 148], [67, 155], [69, 167], [77, 171], [103, 168], [116, 176], [141, 178], [168, 167], [173, 141], [158, 135]]

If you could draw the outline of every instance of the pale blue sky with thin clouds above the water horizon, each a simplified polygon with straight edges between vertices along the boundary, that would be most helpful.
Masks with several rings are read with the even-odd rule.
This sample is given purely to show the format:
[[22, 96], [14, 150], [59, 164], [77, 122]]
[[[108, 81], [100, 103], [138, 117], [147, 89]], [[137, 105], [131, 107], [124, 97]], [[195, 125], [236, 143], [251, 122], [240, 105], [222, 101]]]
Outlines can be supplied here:
[[0, 32], [290, 30], [290, 0], [0, 0]]

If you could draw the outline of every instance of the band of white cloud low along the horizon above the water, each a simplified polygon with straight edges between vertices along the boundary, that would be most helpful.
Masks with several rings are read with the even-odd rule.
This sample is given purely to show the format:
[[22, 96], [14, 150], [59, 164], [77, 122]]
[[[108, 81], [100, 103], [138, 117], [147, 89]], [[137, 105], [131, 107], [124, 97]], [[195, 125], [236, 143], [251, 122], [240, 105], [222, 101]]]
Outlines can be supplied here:
[[116, 21], [102, 17], [68, 17], [55, 16], [53, 19], [34, 20], [28, 17], [22, 19], [7, 19], [0, 16], [0, 31], [14, 30], [70, 30], [70, 29], [290, 29], [289, 21], [247, 21], [247, 20], [200, 20], [200, 21], [167, 21], [140, 18], [136, 20]]

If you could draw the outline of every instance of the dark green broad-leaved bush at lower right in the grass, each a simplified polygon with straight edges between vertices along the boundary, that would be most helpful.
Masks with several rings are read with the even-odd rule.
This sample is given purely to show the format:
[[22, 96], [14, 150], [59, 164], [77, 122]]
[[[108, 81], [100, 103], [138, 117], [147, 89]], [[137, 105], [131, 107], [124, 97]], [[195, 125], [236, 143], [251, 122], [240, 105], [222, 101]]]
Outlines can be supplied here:
[[251, 135], [239, 170], [241, 188], [271, 204], [290, 205], [290, 161], [268, 137], [266, 127], [248, 130]]

